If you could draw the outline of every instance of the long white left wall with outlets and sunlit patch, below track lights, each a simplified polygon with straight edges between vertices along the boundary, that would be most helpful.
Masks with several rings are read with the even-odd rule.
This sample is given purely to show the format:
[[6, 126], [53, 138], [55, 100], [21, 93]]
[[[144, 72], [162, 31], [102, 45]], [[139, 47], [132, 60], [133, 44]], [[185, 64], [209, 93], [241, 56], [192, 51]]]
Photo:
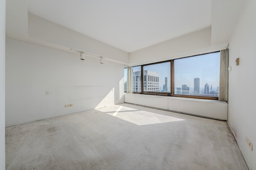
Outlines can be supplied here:
[[6, 126], [123, 103], [123, 76], [121, 64], [6, 38]]

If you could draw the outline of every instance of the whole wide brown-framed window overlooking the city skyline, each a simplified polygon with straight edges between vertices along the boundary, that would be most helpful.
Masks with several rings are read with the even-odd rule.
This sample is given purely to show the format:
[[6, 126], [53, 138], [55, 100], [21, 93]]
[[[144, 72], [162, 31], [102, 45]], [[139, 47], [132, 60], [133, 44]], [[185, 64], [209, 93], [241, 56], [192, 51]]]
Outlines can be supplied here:
[[132, 67], [133, 93], [218, 100], [219, 84], [219, 51]]

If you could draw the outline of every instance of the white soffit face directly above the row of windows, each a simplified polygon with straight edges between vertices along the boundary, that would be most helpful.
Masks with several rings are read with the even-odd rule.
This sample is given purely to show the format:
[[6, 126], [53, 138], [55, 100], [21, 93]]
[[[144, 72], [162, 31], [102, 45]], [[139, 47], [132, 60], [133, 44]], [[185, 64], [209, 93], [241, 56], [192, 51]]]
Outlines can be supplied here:
[[[146, 64], [172, 59], [178, 54], [211, 46], [211, 27], [140, 49], [130, 53], [130, 64]], [[219, 50], [219, 49], [218, 49]], [[197, 53], [199, 54], [199, 53]]]

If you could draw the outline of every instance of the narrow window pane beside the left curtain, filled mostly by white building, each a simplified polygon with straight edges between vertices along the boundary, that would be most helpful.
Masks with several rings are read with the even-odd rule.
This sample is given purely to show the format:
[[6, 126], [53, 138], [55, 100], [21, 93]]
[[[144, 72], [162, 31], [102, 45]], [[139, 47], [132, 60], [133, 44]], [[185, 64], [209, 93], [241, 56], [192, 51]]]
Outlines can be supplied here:
[[141, 67], [132, 67], [132, 92], [141, 92]]

